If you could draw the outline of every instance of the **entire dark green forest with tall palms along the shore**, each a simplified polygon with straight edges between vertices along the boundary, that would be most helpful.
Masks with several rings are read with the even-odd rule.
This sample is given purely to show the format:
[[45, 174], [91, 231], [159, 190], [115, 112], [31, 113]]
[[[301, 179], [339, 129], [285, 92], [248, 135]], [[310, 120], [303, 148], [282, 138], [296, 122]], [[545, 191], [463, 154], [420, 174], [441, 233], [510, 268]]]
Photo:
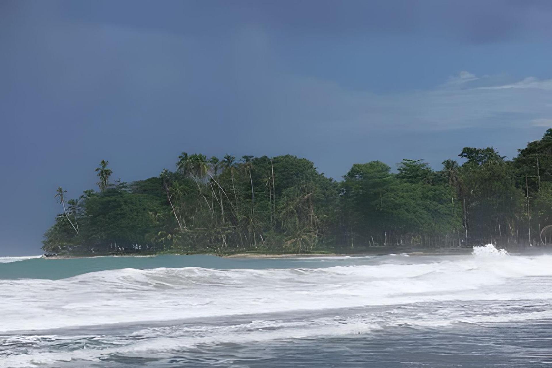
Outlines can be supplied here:
[[507, 159], [466, 147], [433, 170], [354, 164], [341, 182], [296, 156], [207, 158], [125, 183], [108, 161], [98, 190], [60, 203], [43, 249], [57, 254], [334, 252], [368, 247], [508, 247], [551, 242], [552, 129]]

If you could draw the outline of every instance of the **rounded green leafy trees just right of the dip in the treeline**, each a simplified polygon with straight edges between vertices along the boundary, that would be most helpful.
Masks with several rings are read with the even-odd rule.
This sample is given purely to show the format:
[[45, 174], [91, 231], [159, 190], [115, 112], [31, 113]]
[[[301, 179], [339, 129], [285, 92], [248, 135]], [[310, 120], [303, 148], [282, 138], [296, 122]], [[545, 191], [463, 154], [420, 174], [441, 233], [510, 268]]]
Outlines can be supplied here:
[[452, 190], [420, 160], [403, 160], [397, 174], [378, 161], [353, 165], [342, 196], [353, 246], [355, 238], [373, 246], [419, 243], [459, 228]]

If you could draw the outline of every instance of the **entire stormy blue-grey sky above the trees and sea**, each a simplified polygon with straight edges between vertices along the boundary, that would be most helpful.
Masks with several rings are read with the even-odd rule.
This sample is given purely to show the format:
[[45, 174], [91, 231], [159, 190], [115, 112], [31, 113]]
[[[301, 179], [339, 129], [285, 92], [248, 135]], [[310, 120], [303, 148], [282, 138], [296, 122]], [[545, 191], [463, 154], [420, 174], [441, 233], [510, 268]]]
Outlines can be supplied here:
[[514, 157], [552, 127], [551, 46], [546, 0], [0, 0], [0, 256], [40, 254], [102, 159]]

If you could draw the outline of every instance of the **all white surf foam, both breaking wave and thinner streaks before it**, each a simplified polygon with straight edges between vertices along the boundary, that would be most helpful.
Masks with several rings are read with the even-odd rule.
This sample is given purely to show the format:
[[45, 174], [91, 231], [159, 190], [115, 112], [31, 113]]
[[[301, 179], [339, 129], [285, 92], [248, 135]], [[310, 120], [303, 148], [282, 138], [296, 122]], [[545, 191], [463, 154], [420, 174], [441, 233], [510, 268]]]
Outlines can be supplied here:
[[[173, 326], [167, 322], [167, 327], [135, 332], [145, 340], [108, 341], [101, 349], [71, 353], [45, 350], [8, 356], [12, 366], [29, 366], [58, 360], [98, 360], [110, 354], [158, 357], [167, 352], [170, 356], [197, 344], [369, 333], [386, 326], [449, 326], [552, 317], [546, 307], [549, 304], [518, 306], [520, 300], [552, 301], [549, 255], [508, 255], [487, 245], [474, 248], [471, 255], [401, 259], [399, 263], [391, 259], [381, 263], [374, 257], [365, 259], [367, 264], [363, 265], [329, 268], [119, 269], [55, 281], [0, 280], [0, 332], [23, 329], [40, 334], [44, 329], [109, 323], [261, 318], [207, 326]], [[335, 314], [351, 308], [367, 312]], [[274, 313], [309, 317], [270, 319]]]

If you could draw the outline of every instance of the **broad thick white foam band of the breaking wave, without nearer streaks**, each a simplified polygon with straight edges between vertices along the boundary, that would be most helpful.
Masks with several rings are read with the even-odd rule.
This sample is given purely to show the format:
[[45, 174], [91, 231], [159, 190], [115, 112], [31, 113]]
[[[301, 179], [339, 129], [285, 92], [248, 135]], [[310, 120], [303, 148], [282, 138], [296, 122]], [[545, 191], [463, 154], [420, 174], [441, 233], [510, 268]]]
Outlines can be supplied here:
[[[549, 288], [525, 295], [527, 290], [511, 290], [507, 284], [513, 278], [551, 276], [552, 257], [502, 254], [485, 250], [433, 263], [320, 269], [119, 269], [56, 281], [0, 280], [0, 331], [436, 300], [504, 300], [519, 298], [520, 293], [552, 297]], [[500, 295], [493, 295], [489, 287], [503, 284]], [[45, 318], [44, 311], [56, 313]]]

